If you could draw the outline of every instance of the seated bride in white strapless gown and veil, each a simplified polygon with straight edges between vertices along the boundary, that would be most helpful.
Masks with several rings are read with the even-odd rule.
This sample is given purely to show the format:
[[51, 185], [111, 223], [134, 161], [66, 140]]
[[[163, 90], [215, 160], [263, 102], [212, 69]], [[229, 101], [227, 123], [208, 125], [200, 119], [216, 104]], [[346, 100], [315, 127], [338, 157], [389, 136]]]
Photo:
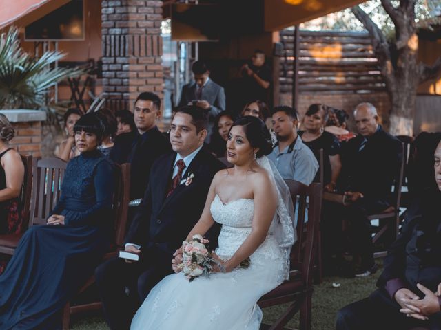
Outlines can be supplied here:
[[[164, 278], [130, 329], [259, 329], [262, 311], [256, 303], [287, 278], [296, 239], [289, 190], [265, 157], [270, 151], [271, 137], [261, 120], [247, 116], [234, 122], [227, 140], [234, 168], [215, 175], [201, 219], [187, 236], [205, 234], [214, 221], [222, 224], [213, 254], [220, 267], [192, 282], [183, 274]], [[178, 273], [181, 251], [174, 255]], [[238, 268], [248, 257], [249, 267]]]

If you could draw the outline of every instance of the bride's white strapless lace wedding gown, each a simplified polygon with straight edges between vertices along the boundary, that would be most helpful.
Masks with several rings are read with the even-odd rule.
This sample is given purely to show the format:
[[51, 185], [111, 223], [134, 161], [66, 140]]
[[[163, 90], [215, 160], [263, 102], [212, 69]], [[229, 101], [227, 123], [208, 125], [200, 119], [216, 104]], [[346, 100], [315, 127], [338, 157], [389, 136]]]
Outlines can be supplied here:
[[[229, 259], [252, 230], [253, 199], [223, 203], [216, 195], [211, 208], [222, 225], [216, 254]], [[152, 289], [132, 320], [132, 330], [258, 330], [262, 311], [258, 299], [284, 279], [286, 257], [273, 236], [250, 256], [247, 269], [214, 273], [189, 282], [181, 273], [165, 277]]]

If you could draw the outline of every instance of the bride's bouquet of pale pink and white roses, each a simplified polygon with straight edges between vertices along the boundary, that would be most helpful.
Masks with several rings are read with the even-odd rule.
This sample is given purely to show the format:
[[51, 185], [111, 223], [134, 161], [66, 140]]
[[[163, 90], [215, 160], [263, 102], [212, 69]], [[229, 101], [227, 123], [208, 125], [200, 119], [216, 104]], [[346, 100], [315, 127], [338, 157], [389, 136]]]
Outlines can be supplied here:
[[[178, 267], [181, 268], [190, 282], [201, 275], [209, 276], [213, 271], [214, 265], [217, 265], [221, 270], [224, 269], [225, 271], [225, 267], [212, 257], [212, 251], [208, 250], [206, 245], [208, 243], [209, 241], [204, 239], [201, 235], [194, 235], [192, 241], [183, 241], [183, 259]], [[240, 263], [238, 267], [249, 267], [249, 258]]]

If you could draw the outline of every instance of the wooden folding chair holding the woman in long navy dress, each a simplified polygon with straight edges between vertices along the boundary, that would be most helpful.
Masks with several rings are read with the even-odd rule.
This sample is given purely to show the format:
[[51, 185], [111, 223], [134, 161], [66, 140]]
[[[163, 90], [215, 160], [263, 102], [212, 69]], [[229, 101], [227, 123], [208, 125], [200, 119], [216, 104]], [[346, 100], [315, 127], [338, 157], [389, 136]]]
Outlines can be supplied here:
[[[116, 176], [116, 186], [113, 199], [114, 208], [114, 244], [109, 252], [103, 256], [103, 261], [113, 258], [118, 254], [119, 250], [124, 249], [125, 229], [127, 226], [127, 212], [130, 201], [130, 164], [118, 166]], [[102, 261], [102, 262], [103, 262]], [[92, 275], [89, 280], [81, 287], [79, 294], [84, 292], [88, 287], [95, 283], [95, 276]], [[63, 309], [63, 330], [69, 329], [70, 316], [83, 311], [99, 311], [101, 310], [101, 301], [83, 303], [81, 305], [71, 305], [67, 303]]]

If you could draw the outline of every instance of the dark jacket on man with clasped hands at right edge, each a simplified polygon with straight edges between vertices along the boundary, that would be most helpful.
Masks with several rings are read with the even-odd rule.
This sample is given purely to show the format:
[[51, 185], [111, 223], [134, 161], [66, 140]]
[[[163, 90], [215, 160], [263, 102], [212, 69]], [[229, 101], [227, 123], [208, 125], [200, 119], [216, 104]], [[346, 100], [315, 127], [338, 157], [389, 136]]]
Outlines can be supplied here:
[[[393, 294], [400, 287], [407, 287], [421, 294], [416, 287], [422, 283], [436, 291], [441, 283], [441, 218], [439, 206], [441, 193], [426, 190], [413, 201], [407, 210], [398, 239], [391, 245], [384, 259], [384, 270], [378, 279], [378, 287], [384, 288], [394, 280]], [[398, 281], [396, 281], [398, 280]]]

